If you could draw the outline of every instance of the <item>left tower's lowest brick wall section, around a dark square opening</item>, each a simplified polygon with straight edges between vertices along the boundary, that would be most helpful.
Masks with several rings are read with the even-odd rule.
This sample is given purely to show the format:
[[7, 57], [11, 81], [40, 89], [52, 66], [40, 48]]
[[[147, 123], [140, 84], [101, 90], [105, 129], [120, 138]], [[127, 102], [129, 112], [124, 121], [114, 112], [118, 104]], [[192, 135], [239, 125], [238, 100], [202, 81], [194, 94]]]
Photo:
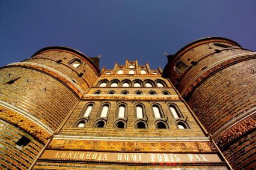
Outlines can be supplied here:
[[[28, 133], [0, 120], [0, 169], [28, 169], [43, 148], [43, 144]], [[16, 142], [25, 135], [31, 139], [25, 147]]]

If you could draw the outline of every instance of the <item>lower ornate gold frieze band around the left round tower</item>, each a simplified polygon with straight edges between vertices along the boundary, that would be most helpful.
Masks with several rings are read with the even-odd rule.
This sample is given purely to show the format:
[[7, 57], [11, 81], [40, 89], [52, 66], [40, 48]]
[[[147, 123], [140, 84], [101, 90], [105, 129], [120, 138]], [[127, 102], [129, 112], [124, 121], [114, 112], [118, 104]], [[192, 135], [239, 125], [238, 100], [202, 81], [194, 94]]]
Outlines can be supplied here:
[[0, 119], [18, 126], [20, 129], [25, 130], [44, 144], [46, 144], [47, 140], [50, 138], [50, 134], [33, 121], [10, 109], [4, 108], [3, 106], [0, 106]]

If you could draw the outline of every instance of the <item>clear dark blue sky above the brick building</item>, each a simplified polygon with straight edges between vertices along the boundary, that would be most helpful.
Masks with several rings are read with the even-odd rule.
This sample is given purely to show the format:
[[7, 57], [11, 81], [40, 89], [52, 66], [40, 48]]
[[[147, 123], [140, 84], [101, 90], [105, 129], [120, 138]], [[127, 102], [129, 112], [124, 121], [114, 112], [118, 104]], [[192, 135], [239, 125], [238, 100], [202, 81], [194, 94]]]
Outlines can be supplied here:
[[102, 55], [100, 68], [125, 59], [164, 67], [203, 37], [225, 37], [256, 50], [256, 1], [0, 0], [0, 66], [46, 46]]

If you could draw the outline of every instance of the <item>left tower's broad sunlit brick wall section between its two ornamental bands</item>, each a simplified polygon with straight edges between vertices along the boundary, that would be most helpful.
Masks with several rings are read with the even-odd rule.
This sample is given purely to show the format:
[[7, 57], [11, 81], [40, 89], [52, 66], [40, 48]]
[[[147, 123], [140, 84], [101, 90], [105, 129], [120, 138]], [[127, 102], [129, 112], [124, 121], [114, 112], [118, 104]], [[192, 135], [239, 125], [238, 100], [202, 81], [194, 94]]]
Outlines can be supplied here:
[[[39, 71], [8, 67], [0, 71], [0, 99], [56, 130], [78, 101], [64, 84]], [[14, 83], [7, 82], [17, 79]]]

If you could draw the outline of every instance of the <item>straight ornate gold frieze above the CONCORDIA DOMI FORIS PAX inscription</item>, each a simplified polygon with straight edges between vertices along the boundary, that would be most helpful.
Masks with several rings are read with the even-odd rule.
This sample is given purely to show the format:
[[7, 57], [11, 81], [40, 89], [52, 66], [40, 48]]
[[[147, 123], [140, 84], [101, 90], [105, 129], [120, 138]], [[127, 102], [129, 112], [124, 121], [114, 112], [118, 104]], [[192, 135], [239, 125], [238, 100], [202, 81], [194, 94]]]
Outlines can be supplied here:
[[210, 142], [77, 141], [64, 139], [53, 139], [47, 148], [91, 151], [139, 151], [143, 153], [217, 151]]

